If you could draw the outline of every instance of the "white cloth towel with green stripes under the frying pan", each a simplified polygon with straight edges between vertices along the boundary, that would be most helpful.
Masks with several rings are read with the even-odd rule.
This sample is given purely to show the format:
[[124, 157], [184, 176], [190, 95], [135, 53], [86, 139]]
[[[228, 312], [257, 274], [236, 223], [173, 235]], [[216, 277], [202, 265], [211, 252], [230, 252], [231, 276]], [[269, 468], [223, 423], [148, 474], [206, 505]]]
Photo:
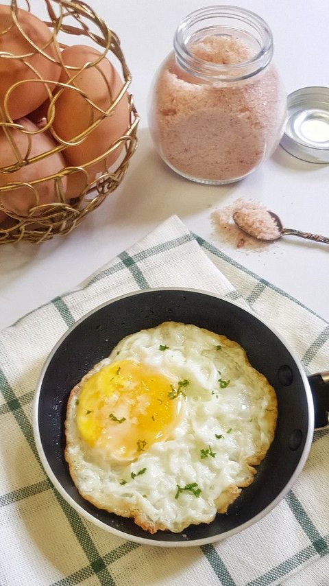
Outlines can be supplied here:
[[282, 333], [308, 373], [328, 370], [324, 320], [191, 234], [176, 216], [169, 218], [80, 288], [0, 333], [0, 585], [327, 586], [328, 430], [315, 432], [300, 478], [269, 515], [202, 547], [124, 541], [80, 517], [47, 479], [32, 430], [34, 388], [47, 354], [90, 309], [162, 286], [199, 288], [247, 303]]

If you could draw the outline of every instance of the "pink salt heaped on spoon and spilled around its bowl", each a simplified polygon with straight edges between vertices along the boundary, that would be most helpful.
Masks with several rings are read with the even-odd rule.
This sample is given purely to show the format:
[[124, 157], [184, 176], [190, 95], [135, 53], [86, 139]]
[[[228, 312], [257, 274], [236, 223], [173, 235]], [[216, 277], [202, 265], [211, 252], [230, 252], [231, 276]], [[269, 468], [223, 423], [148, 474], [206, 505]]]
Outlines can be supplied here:
[[[252, 232], [254, 237], [248, 236], [236, 226], [233, 214], [239, 214], [239, 223], [245, 230]], [[234, 248], [260, 251], [271, 244], [271, 238], [280, 236], [279, 228], [266, 207], [255, 200], [239, 198], [232, 204], [213, 211], [211, 220], [217, 237]], [[269, 242], [258, 240], [263, 237]]]

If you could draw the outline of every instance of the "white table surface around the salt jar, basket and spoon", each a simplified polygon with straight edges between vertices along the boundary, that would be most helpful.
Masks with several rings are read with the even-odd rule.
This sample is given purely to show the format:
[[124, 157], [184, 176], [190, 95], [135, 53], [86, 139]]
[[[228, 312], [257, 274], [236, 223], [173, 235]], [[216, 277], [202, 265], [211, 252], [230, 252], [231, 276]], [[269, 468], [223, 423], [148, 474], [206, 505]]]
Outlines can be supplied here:
[[[42, 4], [32, 1], [35, 14], [41, 16]], [[19, 5], [23, 8], [23, 2]], [[300, 161], [279, 147], [254, 174], [227, 186], [198, 185], [171, 172], [149, 137], [147, 95], [158, 65], [171, 50], [175, 28], [202, 3], [93, 0], [90, 5], [117, 32], [132, 71], [131, 91], [141, 115], [138, 150], [120, 187], [71, 234], [38, 245], [0, 246], [0, 328], [74, 288], [172, 214], [329, 320], [328, 245], [286, 237], [261, 253], [247, 252], [223, 244], [210, 220], [214, 209], [238, 197], [252, 198], [276, 211], [284, 226], [329, 236], [329, 165]], [[263, 16], [271, 27], [275, 62], [287, 93], [328, 85], [328, 2], [240, 0], [239, 5]]]

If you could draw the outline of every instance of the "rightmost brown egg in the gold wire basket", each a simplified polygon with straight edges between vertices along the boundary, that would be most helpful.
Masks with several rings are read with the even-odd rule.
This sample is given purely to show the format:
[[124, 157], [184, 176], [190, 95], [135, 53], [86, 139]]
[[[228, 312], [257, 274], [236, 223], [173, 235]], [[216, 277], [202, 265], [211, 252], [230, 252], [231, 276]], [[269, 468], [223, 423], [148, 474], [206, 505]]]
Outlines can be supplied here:
[[[97, 61], [100, 56], [99, 51], [85, 45], [73, 45], [72, 47], [66, 47], [62, 51], [64, 64], [79, 68], [88, 62]], [[77, 69], [63, 70], [60, 82], [68, 83], [69, 79], [77, 71]], [[123, 87], [123, 81], [107, 58], [102, 58], [97, 66], [89, 67], [78, 73], [71, 84], [84, 92], [88, 99], [102, 110], [110, 108]], [[59, 96], [58, 99], [56, 99], [56, 95]], [[101, 117], [99, 110], [90, 105], [86, 97], [79, 91], [73, 89], [64, 89], [64, 91], [57, 89], [54, 105], [56, 114], [53, 129], [58, 134], [58, 138], [64, 141], [73, 141], [90, 124]], [[125, 93], [114, 110], [112, 110], [111, 115], [104, 118], [99, 126], [84, 138], [80, 145], [66, 147], [63, 155], [67, 165], [79, 167], [101, 156], [111, 147], [114, 141], [117, 141], [125, 134], [129, 123], [130, 106], [127, 93]], [[86, 167], [88, 183], [95, 179], [97, 172], [106, 172], [117, 161], [122, 149], [123, 143], [108, 155], [106, 163], [102, 161], [88, 165]], [[86, 179], [81, 172], [69, 176], [67, 197], [73, 198], [79, 195], [85, 185]]]

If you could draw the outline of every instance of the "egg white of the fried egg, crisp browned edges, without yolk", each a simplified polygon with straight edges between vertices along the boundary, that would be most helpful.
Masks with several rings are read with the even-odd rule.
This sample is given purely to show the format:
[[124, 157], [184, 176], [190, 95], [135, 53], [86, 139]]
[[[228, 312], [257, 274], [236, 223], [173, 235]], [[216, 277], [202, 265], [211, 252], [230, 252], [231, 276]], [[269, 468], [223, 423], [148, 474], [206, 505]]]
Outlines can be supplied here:
[[[109, 463], [80, 437], [76, 399], [93, 373], [127, 359], [187, 380], [184, 409], [166, 441], [133, 462]], [[121, 340], [73, 388], [65, 457], [78, 491], [95, 506], [134, 517], [149, 532], [180, 532], [225, 513], [252, 482], [254, 465], [273, 441], [277, 412], [273, 387], [239, 344], [195, 325], [166, 322]]]

